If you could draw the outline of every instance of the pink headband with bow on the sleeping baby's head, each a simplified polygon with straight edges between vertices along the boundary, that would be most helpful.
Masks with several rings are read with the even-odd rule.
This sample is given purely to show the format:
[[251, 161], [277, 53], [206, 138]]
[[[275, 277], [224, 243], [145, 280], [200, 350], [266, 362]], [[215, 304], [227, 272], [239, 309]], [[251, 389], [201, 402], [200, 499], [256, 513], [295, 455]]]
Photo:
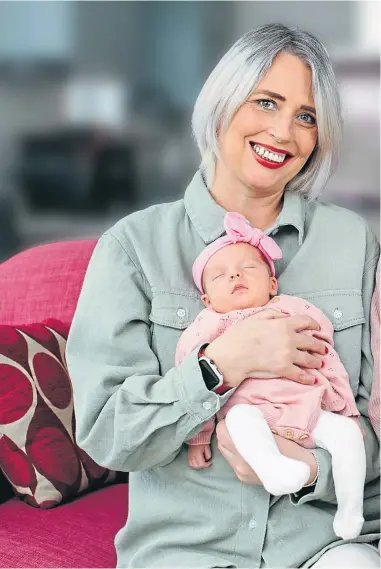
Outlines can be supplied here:
[[208, 245], [193, 263], [193, 280], [201, 294], [204, 294], [202, 286], [202, 274], [209, 259], [223, 247], [233, 243], [248, 243], [259, 249], [268, 262], [272, 276], [275, 276], [273, 261], [282, 258], [282, 251], [274, 239], [263, 233], [260, 229], [251, 227], [247, 219], [240, 213], [228, 212], [225, 215], [224, 227], [226, 235], [219, 237]]

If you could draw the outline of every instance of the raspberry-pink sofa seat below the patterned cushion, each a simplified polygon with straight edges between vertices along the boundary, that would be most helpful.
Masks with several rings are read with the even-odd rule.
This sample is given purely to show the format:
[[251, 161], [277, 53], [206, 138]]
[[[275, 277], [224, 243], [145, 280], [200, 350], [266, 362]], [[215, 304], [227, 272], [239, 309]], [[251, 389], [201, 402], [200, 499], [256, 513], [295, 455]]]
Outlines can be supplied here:
[[53, 510], [17, 498], [0, 506], [0, 567], [115, 567], [114, 537], [127, 519], [128, 485], [86, 493]]

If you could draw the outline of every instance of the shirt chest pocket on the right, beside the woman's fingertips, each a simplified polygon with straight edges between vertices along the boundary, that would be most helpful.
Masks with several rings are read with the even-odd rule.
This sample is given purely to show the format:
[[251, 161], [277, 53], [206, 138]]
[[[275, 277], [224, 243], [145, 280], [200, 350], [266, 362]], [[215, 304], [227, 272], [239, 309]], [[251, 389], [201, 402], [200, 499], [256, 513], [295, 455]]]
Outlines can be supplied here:
[[320, 308], [332, 322], [335, 350], [357, 395], [361, 370], [361, 344], [365, 323], [361, 291], [329, 290], [304, 298]]

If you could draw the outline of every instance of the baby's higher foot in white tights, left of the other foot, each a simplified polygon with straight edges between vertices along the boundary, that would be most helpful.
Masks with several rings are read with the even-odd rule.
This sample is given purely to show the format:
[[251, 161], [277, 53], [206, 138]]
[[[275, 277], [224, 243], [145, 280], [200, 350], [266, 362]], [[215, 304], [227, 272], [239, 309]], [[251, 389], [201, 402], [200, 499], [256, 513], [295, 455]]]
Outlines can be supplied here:
[[276, 456], [267, 465], [269, 468], [259, 476], [267, 492], [273, 496], [298, 492], [310, 477], [307, 464], [287, 456]]

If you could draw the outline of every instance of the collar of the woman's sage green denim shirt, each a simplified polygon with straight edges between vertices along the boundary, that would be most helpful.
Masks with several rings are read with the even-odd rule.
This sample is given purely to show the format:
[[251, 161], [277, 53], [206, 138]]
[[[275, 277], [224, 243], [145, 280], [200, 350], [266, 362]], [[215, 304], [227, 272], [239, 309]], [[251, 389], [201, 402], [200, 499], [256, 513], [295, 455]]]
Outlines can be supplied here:
[[[226, 210], [212, 198], [200, 170], [196, 172], [185, 191], [184, 205], [193, 226], [207, 245], [225, 233], [223, 220]], [[265, 233], [276, 233], [285, 226], [295, 227], [301, 246], [304, 239], [305, 216], [305, 198], [295, 191], [286, 190], [282, 210], [275, 223]]]

